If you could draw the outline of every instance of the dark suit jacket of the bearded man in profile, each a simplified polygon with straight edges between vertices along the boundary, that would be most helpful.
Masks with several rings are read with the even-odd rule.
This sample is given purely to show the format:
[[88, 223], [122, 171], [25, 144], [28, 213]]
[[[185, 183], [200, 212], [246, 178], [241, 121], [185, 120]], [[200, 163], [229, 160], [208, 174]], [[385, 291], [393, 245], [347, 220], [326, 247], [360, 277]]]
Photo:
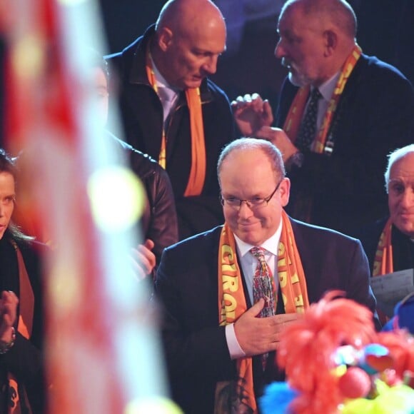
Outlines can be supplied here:
[[[277, 126], [283, 126], [297, 90], [286, 79]], [[366, 223], [385, 216], [387, 155], [413, 142], [413, 114], [414, 92], [408, 79], [373, 56], [360, 56], [328, 131], [333, 153], [306, 153], [303, 166], [288, 172], [292, 190], [286, 211], [303, 220], [298, 207], [309, 199], [310, 223], [353, 236]]]

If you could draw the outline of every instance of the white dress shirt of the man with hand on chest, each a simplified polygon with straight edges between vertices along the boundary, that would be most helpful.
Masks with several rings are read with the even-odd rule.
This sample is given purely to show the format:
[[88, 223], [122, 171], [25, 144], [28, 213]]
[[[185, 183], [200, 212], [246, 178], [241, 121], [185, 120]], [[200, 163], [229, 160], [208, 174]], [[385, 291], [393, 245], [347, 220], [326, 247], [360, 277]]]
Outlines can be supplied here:
[[[282, 233], [282, 221], [279, 224], [278, 230], [276, 230], [276, 233], [271, 236], [271, 238], [268, 238], [263, 244], [261, 244], [260, 247], [264, 248], [266, 250], [265, 252], [265, 259], [266, 263], [268, 263], [269, 268], [271, 269], [271, 272], [273, 276], [276, 276], [274, 278], [275, 285], [276, 285], [276, 291], [278, 291], [279, 286], [279, 280], [277, 277], [278, 274], [278, 246], [279, 246], [279, 240], [281, 239], [281, 233]], [[253, 254], [251, 253], [251, 248], [256, 247], [251, 244], [245, 243], [240, 238], [234, 235], [234, 238], [236, 239], [236, 249], [237, 249], [237, 257], [238, 257], [238, 263], [241, 265], [241, 270], [243, 271], [243, 276], [246, 281], [246, 286], [248, 290], [248, 296], [250, 298], [251, 303], [253, 303], [253, 276], [256, 272], [258, 260]], [[227, 346], [228, 350], [230, 352], [231, 359], [237, 359], [242, 358], [246, 356], [246, 353], [244, 353], [243, 349], [238, 343], [238, 340], [236, 338], [236, 333], [234, 331], [234, 323], [229, 323], [226, 325], [226, 340], [227, 340]]]

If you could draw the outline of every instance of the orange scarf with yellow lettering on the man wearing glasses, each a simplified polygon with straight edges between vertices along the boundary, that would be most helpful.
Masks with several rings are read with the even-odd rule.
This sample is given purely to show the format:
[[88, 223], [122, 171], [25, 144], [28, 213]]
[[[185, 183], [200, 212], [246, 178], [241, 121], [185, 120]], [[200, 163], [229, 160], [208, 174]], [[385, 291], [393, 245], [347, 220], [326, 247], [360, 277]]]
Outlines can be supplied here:
[[[305, 273], [296, 248], [291, 221], [282, 211], [282, 233], [278, 245], [278, 279], [282, 291], [286, 313], [303, 313], [309, 306]], [[275, 295], [275, 306], [277, 293]], [[247, 310], [243, 292], [243, 281], [236, 257], [236, 242], [233, 232], [225, 223], [221, 231], [218, 250], [218, 315], [219, 325], [236, 322]], [[276, 309], [275, 309], [276, 310]], [[275, 362], [276, 363], [276, 362]], [[253, 360], [237, 360], [238, 404], [247, 405], [257, 413], [257, 403], [253, 391]]]

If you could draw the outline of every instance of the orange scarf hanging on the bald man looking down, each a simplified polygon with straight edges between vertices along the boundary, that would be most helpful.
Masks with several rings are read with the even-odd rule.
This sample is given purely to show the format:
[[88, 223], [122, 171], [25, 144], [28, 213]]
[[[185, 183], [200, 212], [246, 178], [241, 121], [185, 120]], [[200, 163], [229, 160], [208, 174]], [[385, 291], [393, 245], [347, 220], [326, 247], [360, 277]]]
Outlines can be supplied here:
[[[158, 94], [149, 46], [146, 53], [146, 75], [148, 76], [149, 84], [153, 87], [154, 91], [156, 91], [156, 94]], [[203, 191], [204, 181], [206, 180], [206, 143], [204, 140], [200, 89], [186, 89], [186, 100], [188, 112], [190, 113], [191, 170], [184, 196], [189, 197], [199, 196], [201, 191]], [[166, 168], [166, 131], [164, 128], [161, 138], [161, 150], [158, 156], [158, 163], [164, 169]]]

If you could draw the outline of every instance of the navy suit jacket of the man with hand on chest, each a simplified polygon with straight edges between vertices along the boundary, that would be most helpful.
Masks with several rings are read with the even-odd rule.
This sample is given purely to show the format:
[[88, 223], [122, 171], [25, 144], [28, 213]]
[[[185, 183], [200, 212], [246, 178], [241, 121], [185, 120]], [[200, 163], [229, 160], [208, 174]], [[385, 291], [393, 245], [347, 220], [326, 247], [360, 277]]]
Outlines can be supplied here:
[[[374, 311], [368, 260], [360, 241], [325, 228], [291, 222], [310, 303], [328, 290], [339, 289]], [[213, 413], [216, 383], [236, 376], [225, 328], [218, 326], [220, 233], [221, 226], [166, 248], [156, 277], [171, 390], [185, 413]], [[254, 372], [259, 395], [263, 383], [274, 378], [266, 378], [261, 370]]]

